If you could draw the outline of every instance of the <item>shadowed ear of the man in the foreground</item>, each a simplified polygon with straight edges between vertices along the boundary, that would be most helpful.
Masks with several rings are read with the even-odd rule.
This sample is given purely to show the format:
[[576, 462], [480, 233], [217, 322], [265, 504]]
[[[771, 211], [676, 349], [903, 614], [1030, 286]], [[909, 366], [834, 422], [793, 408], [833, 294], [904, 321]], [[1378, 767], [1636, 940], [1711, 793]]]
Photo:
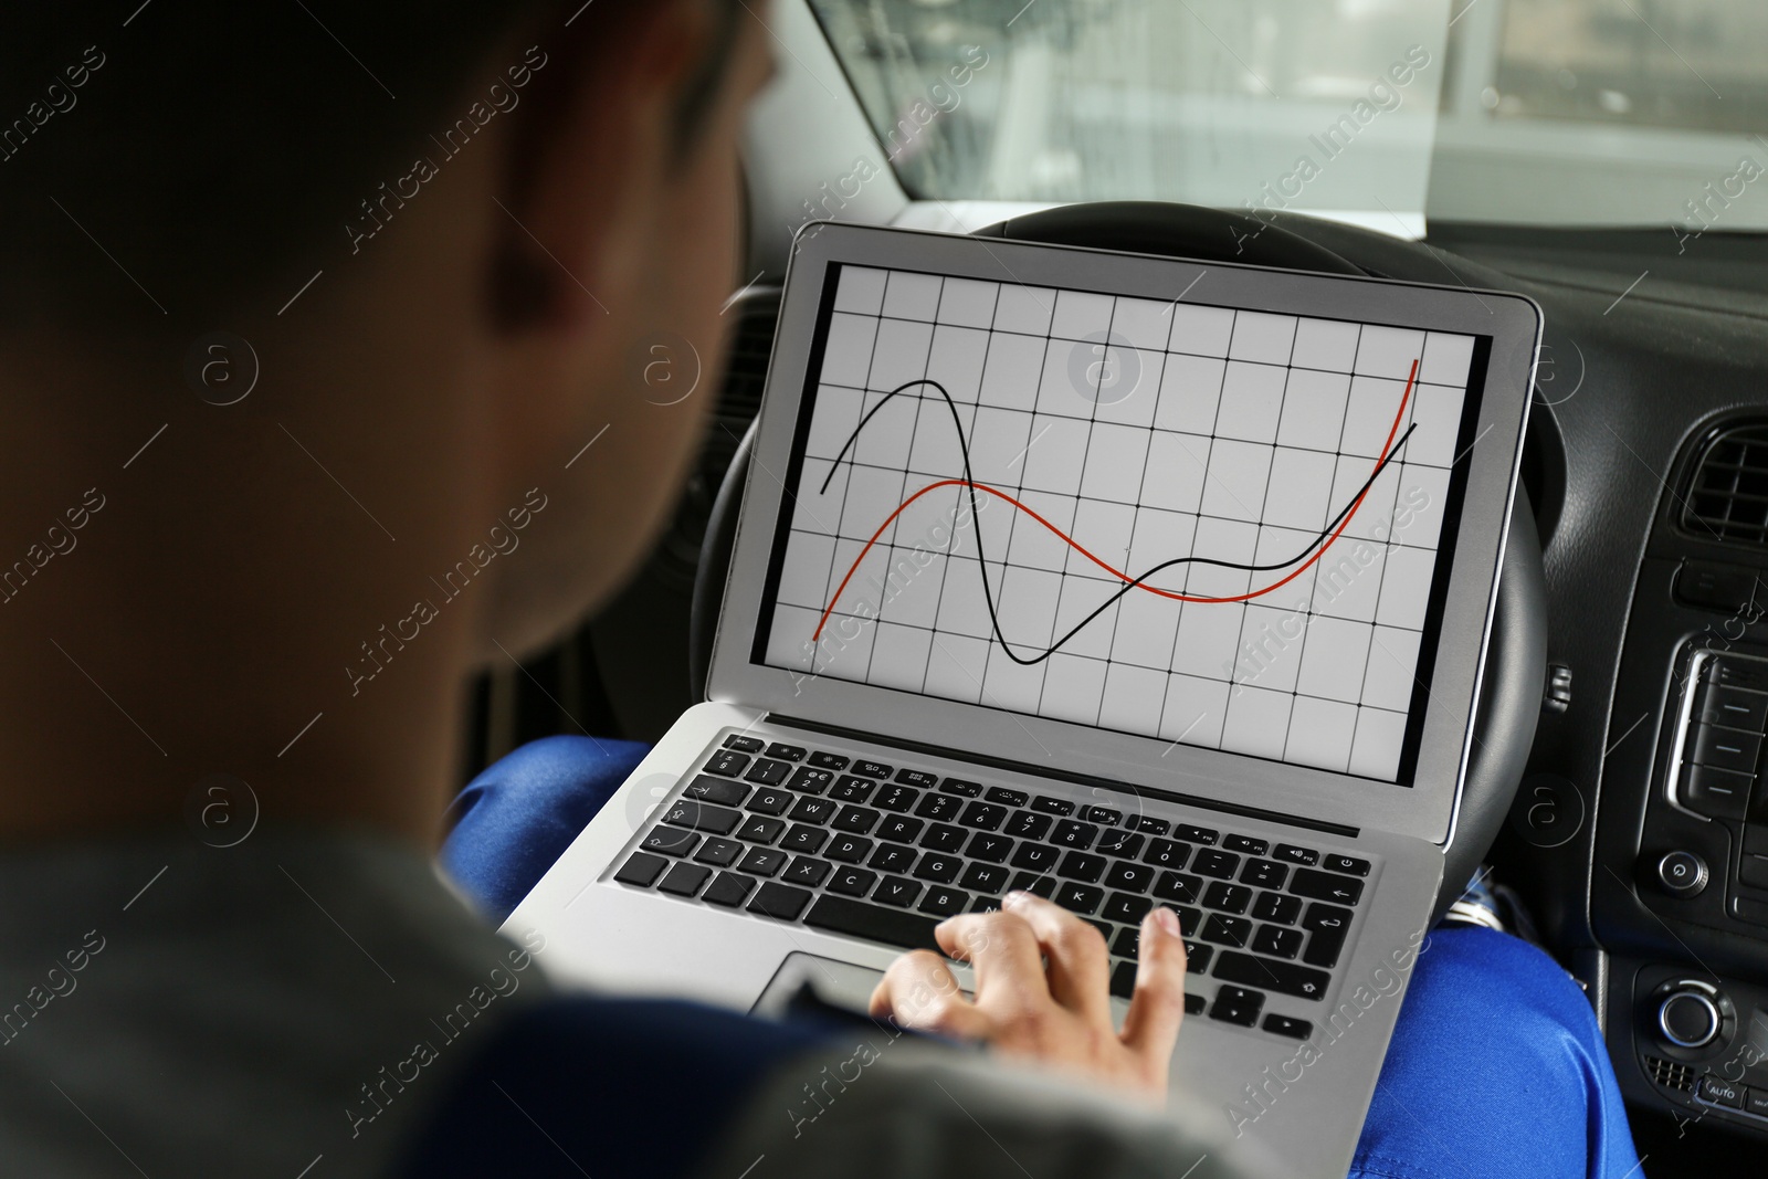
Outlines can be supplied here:
[[507, 145], [488, 274], [500, 331], [589, 331], [645, 265], [651, 198], [681, 143], [681, 97], [711, 53], [707, 0], [642, 0], [537, 46]]

